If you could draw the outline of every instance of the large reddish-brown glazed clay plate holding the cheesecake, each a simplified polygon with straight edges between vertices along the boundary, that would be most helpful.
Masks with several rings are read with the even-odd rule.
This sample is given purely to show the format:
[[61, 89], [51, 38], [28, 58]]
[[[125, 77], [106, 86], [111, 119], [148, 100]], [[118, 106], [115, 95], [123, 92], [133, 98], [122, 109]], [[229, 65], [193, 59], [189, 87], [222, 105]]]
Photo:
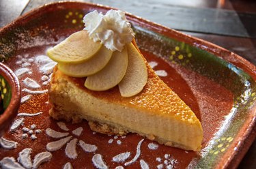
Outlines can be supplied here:
[[[72, 159], [65, 153], [69, 143], [63, 144], [61, 149], [51, 151], [51, 159], [41, 164], [40, 168], [61, 168], [67, 162], [73, 168], [95, 168], [92, 157], [96, 154], [102, 155], [109, 168], [140, 168], [143, 164], [150, 168], [236, 167], [255, 137], [251, 135], [255, 126], [255, 66], [224, 48], [132, 14], [127, 14], [127, 18], [136, 32], [141, 52], [160, 78], [180, 95], [200, 119], [203, 126], [201, 151], [184, 151], [156, 142], [153, 143], [158, 147], [152, 149], [152, 141], [145, 139], [141, 144], [141, 153], [138, 152], [139, 158], [127, 164], [135, 157], [137, 145], [143, 139], [141, 136], [128, 134], [126, 138], [121, 138], [95, 134], [89, 129], [87, 121], [79, 124], [65, 122], [67, 128], [61, 129], [57, 121], [48, 116], [48, 95], [43, 90], [48, 89], [46, 79], [51, 72], [44, 69], [48, 61], [38, 61], [38, 56], [46, 55], [47, 48], [83, 29], [81, 20], [88, 12], [98, 10], [104, 13], [109, 9], [90, 3], [51, 3], [21, 16], [1, 30], [1, 59], [5, 59], [5, 63], [14, 71], [28, 69], [19, 76], [19, 80], [23, 89], [22, 97], [31, 96], [20, 106], [19, 112], [42, 114], [23, 116], [23, 125], [14, 132], [5, 133], [3, 137], [17, 142], [17, 147], [10, 150], [1, 147], [0, 159], [7, 156], [17, 159], [20, 151], [31, 148], [33, 162], [35, 155], [47, 152], [46, 144], [61, 139], [46, 135], [46, 129], [50, 128], [66, 132], [68, 136], [93, 144], [98, 149], [89, 153], [76, 144], [77, 157]], [[44, 78], [43, 73], [46, 74]], [[22, 82], [25, 78], [35, 80], [40, 87], [27, 87]], [[24, 91], [25, 88], [43, 93], [28, 93]], [[33, 124], [36, 125], [33, 126], [35, 129], [31, 127]], [[37, 138], [30, 138], [30, 134], [24, 138], [22, 135], [26, 132], [23, 132], [23, 127], [31, 129]], [[78, 127], [82, 127], [83, 132], [73, 134], [72, 131]], [[35, 132], [36, 129], [40, 129], [40, 132]], [[113, 161], [115, 155], [125, 152], [130, 152], [128, 159], [123, 159], [124, 162]]]

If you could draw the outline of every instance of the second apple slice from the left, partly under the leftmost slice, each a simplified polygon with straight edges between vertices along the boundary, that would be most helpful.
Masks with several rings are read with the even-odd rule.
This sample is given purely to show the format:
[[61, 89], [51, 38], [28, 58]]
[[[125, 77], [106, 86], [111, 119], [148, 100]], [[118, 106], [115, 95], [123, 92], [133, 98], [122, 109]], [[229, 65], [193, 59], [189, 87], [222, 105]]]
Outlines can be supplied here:
[[96, 74], [106, 66], [111, 59], [112, 53], [113, 52], [111, 50], [102, 46], [102, 48], [100, 48], [96, 55], [91, 59], [77, 64], [59, 63], [58, 69], [64, 74], [76, 78], [90, 76], [92, 74]]

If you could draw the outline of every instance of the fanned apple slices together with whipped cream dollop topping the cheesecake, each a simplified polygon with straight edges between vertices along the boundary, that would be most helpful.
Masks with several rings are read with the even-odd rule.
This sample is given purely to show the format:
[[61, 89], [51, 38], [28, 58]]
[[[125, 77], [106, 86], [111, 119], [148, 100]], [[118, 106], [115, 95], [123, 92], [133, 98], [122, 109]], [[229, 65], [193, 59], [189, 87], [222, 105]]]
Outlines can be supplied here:
[[85, 87], [106, 91], [117, 84], [122, 97], [132, 97], [147, 83], [147, 67], [134, 47], [134, 32], [124, 12], [97, 11], [83, 18], [85, 29], [47, 51], [58, 68], [72, 77], [87, 77]]

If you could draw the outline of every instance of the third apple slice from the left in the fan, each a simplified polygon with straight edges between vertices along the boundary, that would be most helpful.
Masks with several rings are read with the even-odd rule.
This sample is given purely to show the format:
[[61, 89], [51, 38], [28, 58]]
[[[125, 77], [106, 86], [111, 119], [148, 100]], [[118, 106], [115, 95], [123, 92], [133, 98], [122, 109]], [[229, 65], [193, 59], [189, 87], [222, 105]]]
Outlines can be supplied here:
[[106, 91], [115, 87], [124, 78], [127, 65], [127, 48], [122, 52], [113, 52], [109, 63], [100, 72], [86, 78], [85, 87], [92, 91]]

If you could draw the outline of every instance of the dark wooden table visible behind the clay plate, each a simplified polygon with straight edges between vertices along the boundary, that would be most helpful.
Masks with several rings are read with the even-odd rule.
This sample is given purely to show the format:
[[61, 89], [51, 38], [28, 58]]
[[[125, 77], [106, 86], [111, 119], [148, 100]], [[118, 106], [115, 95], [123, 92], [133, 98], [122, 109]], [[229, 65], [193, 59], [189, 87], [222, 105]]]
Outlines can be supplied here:
[[[0, 0], [0, 29], [35, 7], [56, 0]], [[207, 40], [256, 65], [256, 1], [91, 0]], [[253, 132], [256, 135], [256, 129]], [[256, 168], [256, 141], [238, 168]]]

